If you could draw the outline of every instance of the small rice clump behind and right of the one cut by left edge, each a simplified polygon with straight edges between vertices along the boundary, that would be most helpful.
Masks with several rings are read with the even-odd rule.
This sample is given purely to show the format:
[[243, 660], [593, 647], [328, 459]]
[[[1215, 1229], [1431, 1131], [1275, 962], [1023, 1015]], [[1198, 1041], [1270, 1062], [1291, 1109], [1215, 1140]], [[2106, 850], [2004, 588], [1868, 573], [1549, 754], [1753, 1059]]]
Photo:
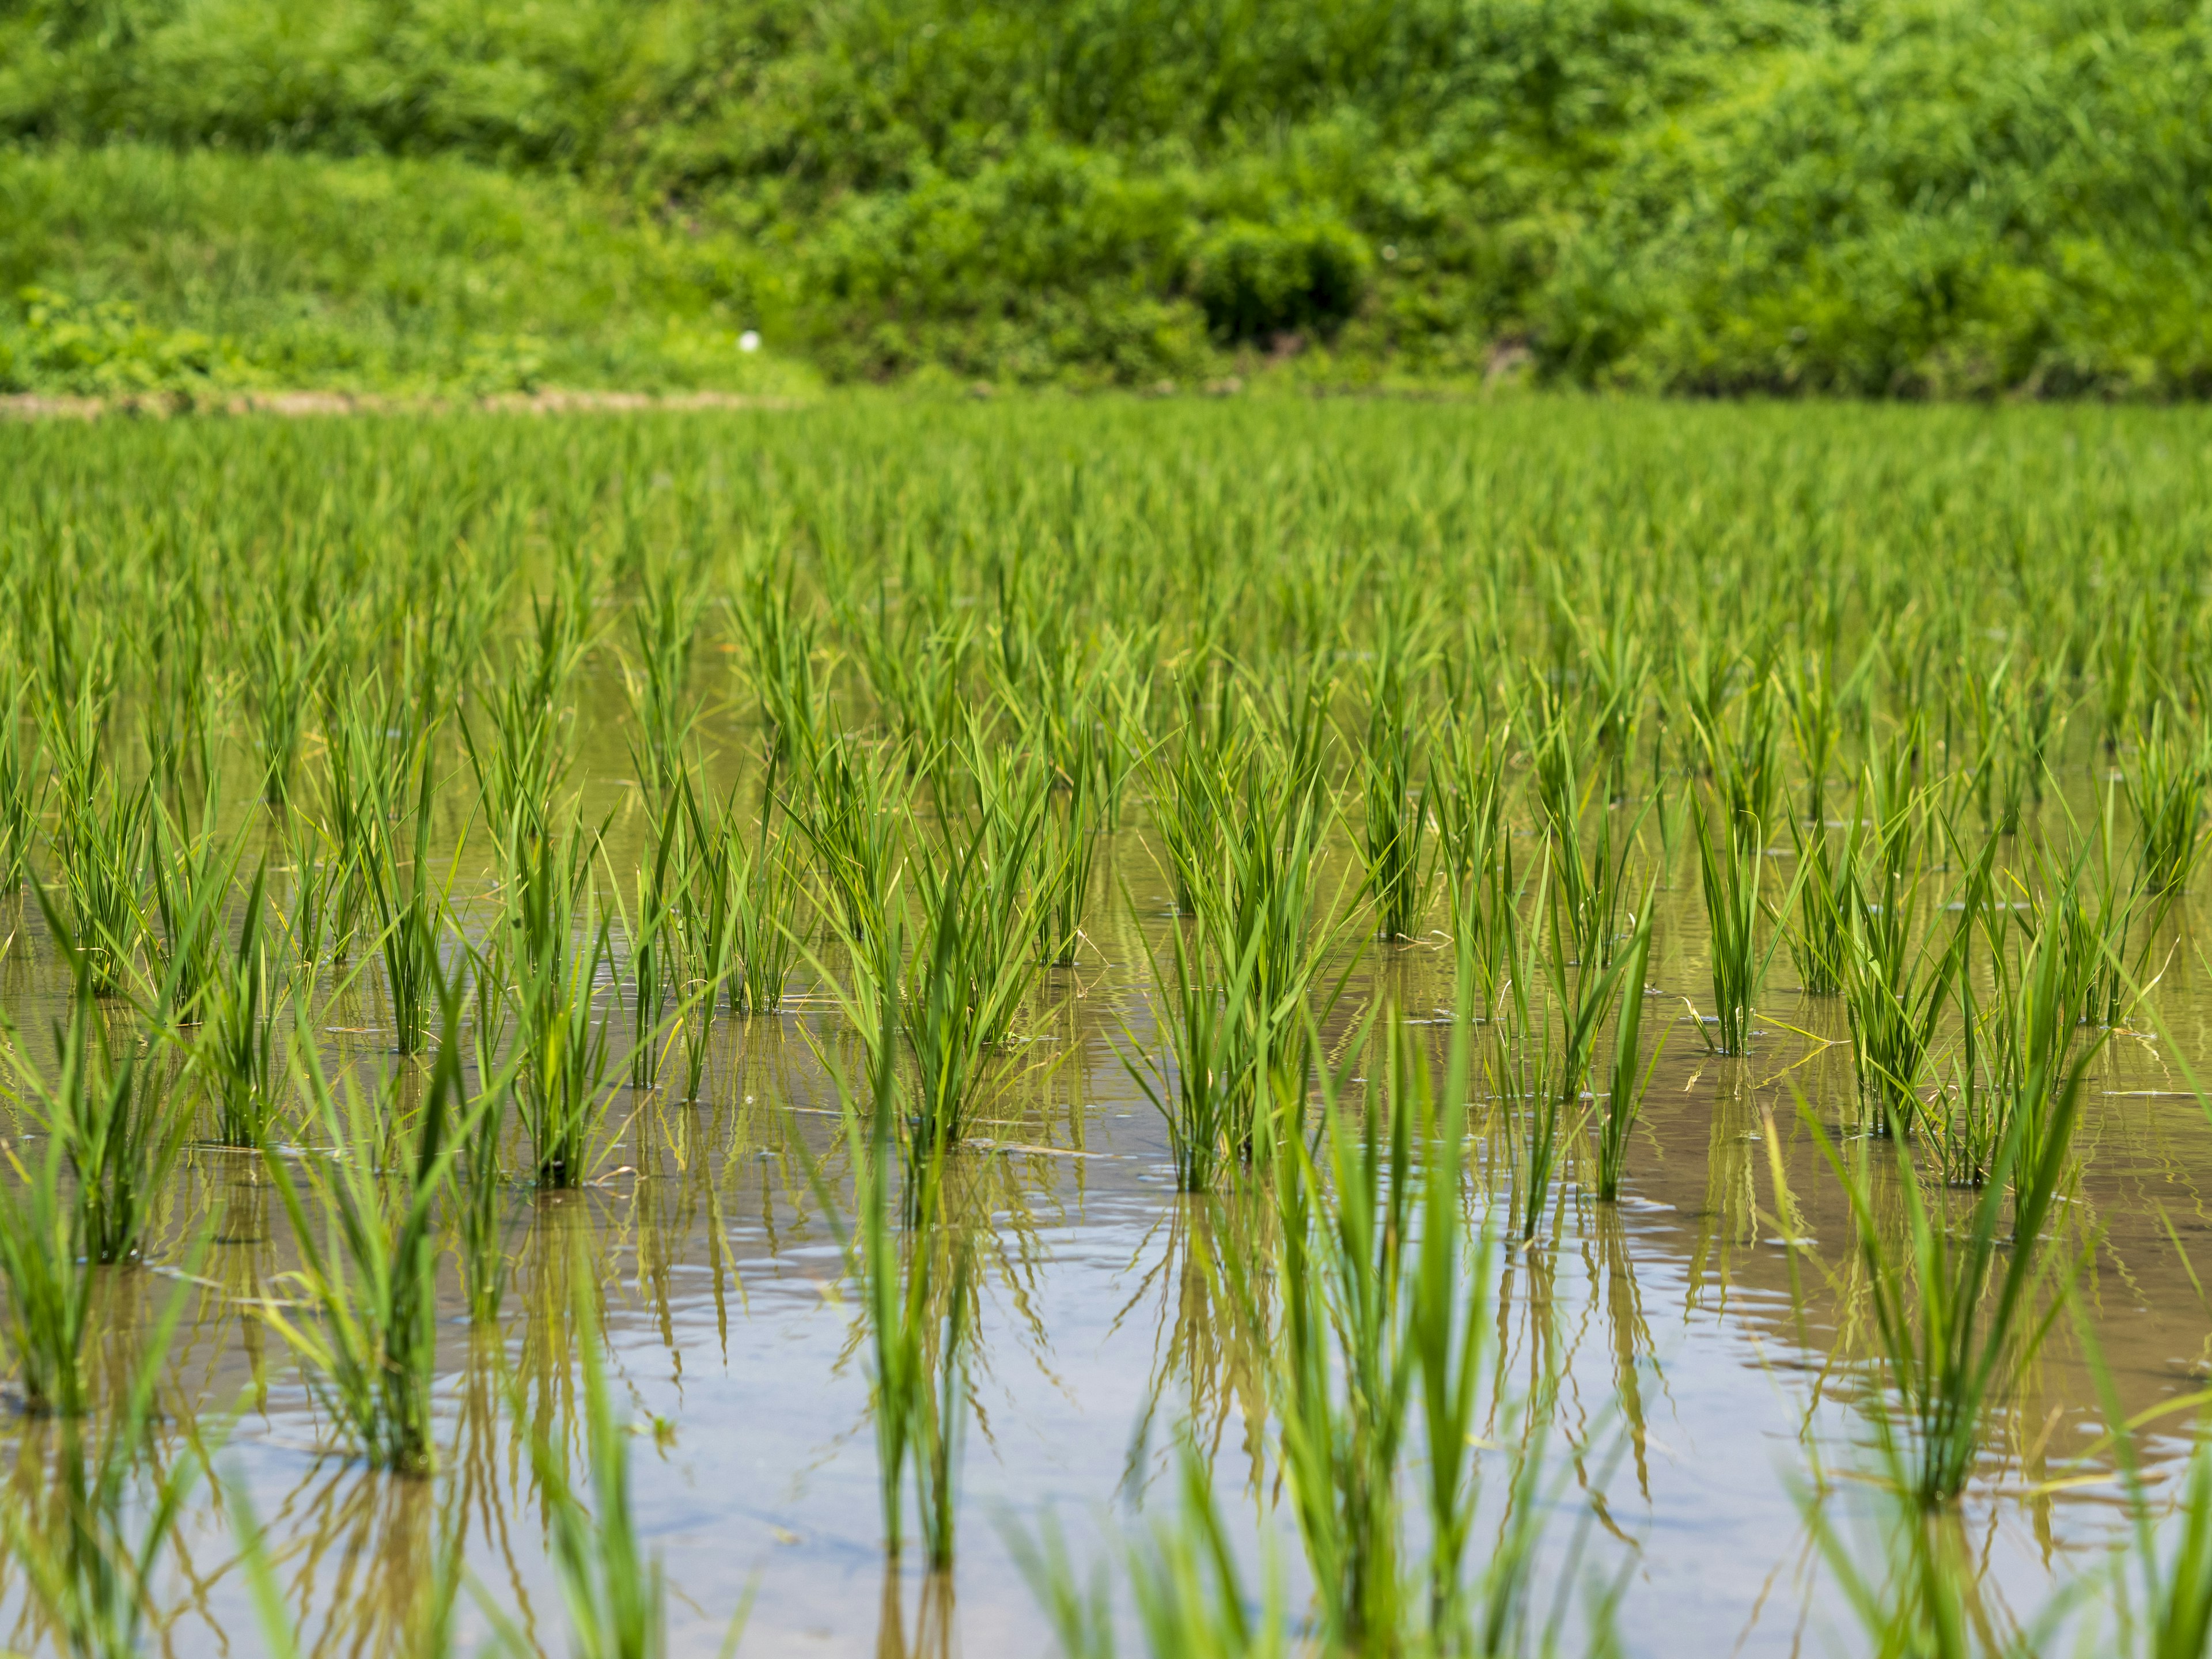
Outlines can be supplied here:
[[93, 969], [75, 958], [69, 1018], [55, 1020], [53, 1079], [9, 1031], [13, 1099], [62, 1146], [75, 1177], [77, 1248], [88, 1261], [135, 1261], [153, 1208], [192, 1126], [170, 1099], [170, 1002], [133, 1011], [128, 1037], [108, 1033]]

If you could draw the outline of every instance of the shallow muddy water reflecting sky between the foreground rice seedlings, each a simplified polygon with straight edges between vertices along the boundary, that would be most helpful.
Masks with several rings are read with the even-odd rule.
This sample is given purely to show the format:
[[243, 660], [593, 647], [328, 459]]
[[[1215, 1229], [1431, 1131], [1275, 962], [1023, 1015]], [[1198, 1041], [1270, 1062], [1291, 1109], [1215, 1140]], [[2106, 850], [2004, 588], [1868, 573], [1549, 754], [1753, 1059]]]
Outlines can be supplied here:
[[[611, 865], [626, 872], [644, 825], [619, 748], [586, 743], [582, 776], [591, 810], [611, 814]], [[1102, 860], [1082, 962], [1044, 975], [1024, 1042], [1002, 1062], [1004, 1086], [980, 1110], [978, 1135], [998, 1146], [960, 1159], [960, 1206], [987, 1241], [987, 1272], [949, 1582], [925, 1579], [914, 1551], [900, 1564], [883, 1548], [865, 1354], [834, 1214], [849, 1203], [830, 1077], [845, 1033], [810, 969], [785, 1013], [721, 1020], [708, 1099], [619, 1091], [619, 1133], [588, 1190], [513, 1192], [498, 1329], [467, 1323], [447, 1263], [436, 1478], [380, 1475], [336, 1449], [292, 1358], [252, 1316], [257, 1298], [283, 1294], [294, 1250], [246, 1155], [190, 1157], [166, 1194], [155, 1267], [115, 1287], [95, 1371], [119, 1365], [142, 1310], [184, 1285], [164, 1458], [195, 1455], [186, 1425], [197, 1425], [212, 1469], [261, 1515], [312, 1652], [403, 1652], [407, 1608], [449, 1537], [462, 1540], [473, 1579], [465, 1646], [489, 1630], [482, 1597], [564, 1650], [518, 1422], [577, 1438], [566, 1307], [580, 1270], [604, 1307], [617, 1405], [639, 1429], [635, 1513], [666, 1564], [677, 1652], [717, 1650], [748, 1597], [750, 1655], [1046, 1652], [1009, 1533], [1053, 1513], [1077, 1562], [1097, 1559], [1172, 1502], [1183, 1425], [1214, 1455], [1254, 1582], [1272, 1553], [1296, 1608], [1303, 1568], [1250, 1416], [1261, 1400], [1250, 1345], [1201, 1272], [1210, 1241], [1237, 1248], [1254, 1221], [1234, 1199], [1177, 1194], [1164, 1126], [1121, 1060], [1157, 1048], [1141, 938], [1170, 925], [1141, 823], [1135, 803]], [[1557, 1376], [1544, 1613], [1559, 1597], [1575, 1646], [1586, 1590], [1610, 1584], [1630, 1652], [1856, 1650], [1807, 1524], [1816, 1471], [1829, 1475], [1825, 1502], [1845, 1535], [1874, 1513], [1865, 1294], [1849, 1212], [1809, 1128], [1840, 1130], [1849, 1115], [1843, 1011], [1796, 991], [1778, 956], [1754, 1053], [1708, 1055], [1683, 1013], [1686, 1000], [1710, 1000], [1683, 845], [1663, 872], [1650, 1018], [1668, 1048], [1628, 1192], [1601, 1206], [1571, 1166], [1540, 1239], [1500, 1243], [1493, 1259], [1506, 1400]], [[2212, 1358], [2194, 1279], [2212, 1274], [2212, 1126], [2188, 1075], [2212, 1064], [2199, 902], [2179, 909], [2159, 951], [2157, 1024], [2108, 1037], [2077, 1137], [2075, 1219], [2095, 1237], [2081, 1329], [2126, 1413], [2188, 1400]], [[1334, 1031], [1383, 995], [1416, 1015], [1449, 1006], [1440, 938], [1360, 949]], [[58, 1006], [33, 920], [0, 967], [0, 993], [27, 1031]], [[372, 975], [323, 1018], [330, 1055], [396, 1068], [378, 1018]], [[1469, 1130], [1478, 1148], [1495, 1133], [1480, 1110]], [[1471, 1197], [1471, 1219], [1506, 1232], [1495, 1181], [1489, 1199]], [[184, 1245], [199, 1230], [212, 1243], [186, 1283]], [[2126, 1531], [2081, 1329], [2062, 1318], [2031, 1387], [1986, 1425], [1962, 1511], [1989, 1595], [2022, 1619], [2104, 1571]], [[2154, 1491], [2185, 1455], [2188, 1429], [2177, 1411], [2146, 1433]], [[44, 1427], [18, 1418], [11, 1433], [29, 1451]], [[1493, 1433], [1526, 1433], [1526, 1422], [1504, 1409]], [[1482, 1453], [1493, 1489], [1502, 1458]], [[1498, 1517], [1495, 1493], [1486, 1515]], [[1874, 1559], [1871, 1535], [1865, 1548]], [[179, 1655], [261, 1648], [206, 1482], [164, 1575], [157, 1641]]]

